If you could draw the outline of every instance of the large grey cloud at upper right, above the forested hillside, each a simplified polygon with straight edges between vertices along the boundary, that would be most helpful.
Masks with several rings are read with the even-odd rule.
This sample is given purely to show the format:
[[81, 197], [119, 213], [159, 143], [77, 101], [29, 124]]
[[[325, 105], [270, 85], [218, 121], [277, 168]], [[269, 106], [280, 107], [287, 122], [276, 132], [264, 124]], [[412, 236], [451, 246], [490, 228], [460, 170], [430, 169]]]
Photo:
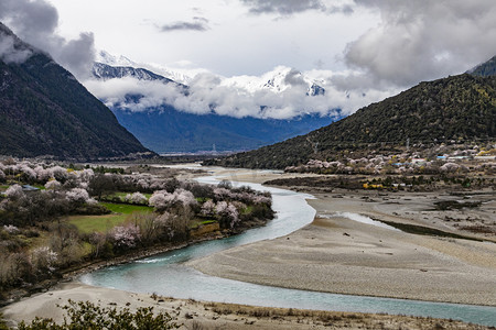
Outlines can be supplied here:
[[355, 85], [409, 87], [463, 73], [496, 54], [494, 0], [355, 0], [380, 12], [381, 22], [345, 50]]

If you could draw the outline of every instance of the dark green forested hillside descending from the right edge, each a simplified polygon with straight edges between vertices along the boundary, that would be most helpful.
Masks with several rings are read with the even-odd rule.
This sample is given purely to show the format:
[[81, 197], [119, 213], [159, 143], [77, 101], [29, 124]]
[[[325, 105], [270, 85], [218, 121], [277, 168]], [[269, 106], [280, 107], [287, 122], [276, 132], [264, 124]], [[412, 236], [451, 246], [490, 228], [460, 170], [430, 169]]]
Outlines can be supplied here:
[[216, 162], [239, 167], [284, 168], [368, 144], [430, 143], [496, 138], [496, 77], [460, 75], [421, 82], [356, 113], [257, 151]]

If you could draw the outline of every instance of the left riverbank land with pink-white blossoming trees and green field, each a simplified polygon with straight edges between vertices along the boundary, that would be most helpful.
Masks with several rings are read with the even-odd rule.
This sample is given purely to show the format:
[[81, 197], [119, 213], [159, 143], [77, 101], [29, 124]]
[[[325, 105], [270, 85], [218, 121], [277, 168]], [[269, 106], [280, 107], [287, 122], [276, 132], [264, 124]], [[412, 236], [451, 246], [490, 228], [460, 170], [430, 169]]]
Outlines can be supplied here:
[[149, 169], [0, 162], [0, 293], [29, 290], [89, 262], [229, 235], [273, 218], [268, 193]]

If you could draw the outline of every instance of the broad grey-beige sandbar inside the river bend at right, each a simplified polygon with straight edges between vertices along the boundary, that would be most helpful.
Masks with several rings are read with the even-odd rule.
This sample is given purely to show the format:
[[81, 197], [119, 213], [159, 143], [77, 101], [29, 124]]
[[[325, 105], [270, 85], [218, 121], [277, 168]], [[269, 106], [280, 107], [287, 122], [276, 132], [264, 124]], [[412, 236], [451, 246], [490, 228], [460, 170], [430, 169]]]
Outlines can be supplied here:
[[[274, 177], [267, 173], [259, 182]], [[237, 175], [238, 180], [254, 176]], [[255, 177], [257, 179], [257, 177]], [[371, 195], [371, 196], [370, 196]], [[496, 306], [496, 244], [409, 234], [339, 217], [339, 212], [477, 237], [446, 224], [432, 200], [440, 194], [314, 194], [315, 221], [283, 238], [238, 246], [191, 266], [215, 276], [337, 294]], [[496, 202], [450, 211], [495, 221]], [[493, 240], [493, 237], [482, 237]]]

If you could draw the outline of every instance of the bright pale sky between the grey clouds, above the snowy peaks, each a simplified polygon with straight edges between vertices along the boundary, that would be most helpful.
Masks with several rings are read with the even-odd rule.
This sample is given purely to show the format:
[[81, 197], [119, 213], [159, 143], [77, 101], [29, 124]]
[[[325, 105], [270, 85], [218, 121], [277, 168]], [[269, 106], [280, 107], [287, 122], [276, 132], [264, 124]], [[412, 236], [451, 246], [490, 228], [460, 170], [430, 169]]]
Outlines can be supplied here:
[[89, 31], [97, 48], [111, 54], [224, 76], [261, 75], [278, 65], [342, 69], [346, 44], [379, 23], [368, 9], [333, 14], [333, 6], [316, 0], [50, 1], [65, 36]]

